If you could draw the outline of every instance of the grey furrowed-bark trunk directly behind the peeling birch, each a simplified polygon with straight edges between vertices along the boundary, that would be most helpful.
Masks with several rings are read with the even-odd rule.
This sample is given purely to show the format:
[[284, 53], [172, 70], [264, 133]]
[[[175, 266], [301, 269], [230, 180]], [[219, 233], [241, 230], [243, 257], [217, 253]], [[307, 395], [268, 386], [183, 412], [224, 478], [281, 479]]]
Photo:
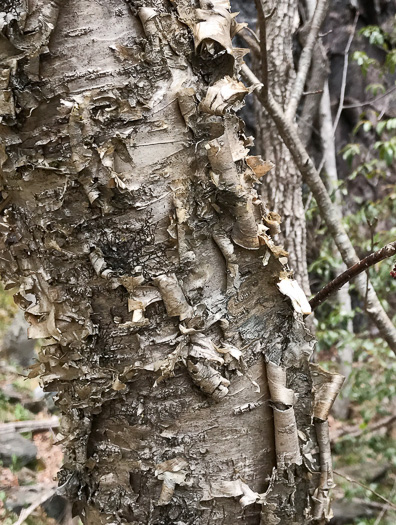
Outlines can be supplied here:
[[[266, 22], [268, 87], [285, 111], [296, 79], [292, 37], [299, 23], [298, 1], [269, 2], [266, 10], [268, 15], [272, 14]], [[259, 68], [260, 64], [256, 64], [255, 69]], [[261, 78], [260, 74], [257, 76]], [[275, 123], [263, 110], [261, 104], [257, 102], [256, 104], [256, 147], [260, 154], [275, 164], [275, 168], [263, 180], [262, 196], [271, 209], [282, 215], [279, 239], [290, 254], [290, 263], [296, 279], [308, 295], [310, 288], [306, 262], [306, 228], [301, 175], [280, 138]]]

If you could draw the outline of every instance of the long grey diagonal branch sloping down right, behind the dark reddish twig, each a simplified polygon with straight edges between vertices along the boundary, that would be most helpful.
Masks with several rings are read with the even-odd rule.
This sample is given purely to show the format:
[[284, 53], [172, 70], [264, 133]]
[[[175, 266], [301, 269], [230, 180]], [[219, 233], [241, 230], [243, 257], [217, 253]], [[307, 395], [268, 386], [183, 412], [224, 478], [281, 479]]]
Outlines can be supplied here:
[[[244, 65], [242, 75], [249, 84], [257, 84], [259, 80], [252, 71]], [[353, 266], [360, 261], [349, 239], [344, 226], [342, 225], [339, 214], [327, 192], [326, 186], [321, 180], [315, 166], [309, 157], [294, 123], [286, 119], [281, 107], [274, 100], [271, 93], [263, 94], [263, 89], [257, 89], [255, 95], [263, 104], [271, 118], [274, 120], [276, 127], [283, 142], [289, 149], [298, 170], [304, 181], [309, 186], [312, 194], [318, 204], [320, 214], [333, 237], [334, 242], [341, 254], [341, 257], [347, 266]], [[368, 284], [368, 287], [367, 287]], [[383, 309], [377, 294], [365, 274], [359, 274], [356, 277], [356, 288], [361, 297], [365, 298], [367, 293], [367, 314], [372, 322], [377, 326], [381, 336], [388, 343], [389, 347], [396, 354], [396, 328]]]

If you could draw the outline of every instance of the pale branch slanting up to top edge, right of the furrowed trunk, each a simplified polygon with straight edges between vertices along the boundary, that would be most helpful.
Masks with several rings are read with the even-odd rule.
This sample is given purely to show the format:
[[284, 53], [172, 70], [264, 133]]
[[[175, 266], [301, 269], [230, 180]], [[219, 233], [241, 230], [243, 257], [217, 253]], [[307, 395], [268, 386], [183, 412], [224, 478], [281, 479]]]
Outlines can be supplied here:
[[298, 63], [296, 81], [294, 83], [289, 105], [286, 111], [286, 118], [288, 120], [294, 120], [294, 117], [296, 116], [297, 107], [304, 91], [308, 71], [311, 67], [313, 50], [318, 40], [320, 28], [326, 17], [328, 6], [329, 0], [318, 0], [316, 4], [307, 43], [301, 53], [300, 61]]

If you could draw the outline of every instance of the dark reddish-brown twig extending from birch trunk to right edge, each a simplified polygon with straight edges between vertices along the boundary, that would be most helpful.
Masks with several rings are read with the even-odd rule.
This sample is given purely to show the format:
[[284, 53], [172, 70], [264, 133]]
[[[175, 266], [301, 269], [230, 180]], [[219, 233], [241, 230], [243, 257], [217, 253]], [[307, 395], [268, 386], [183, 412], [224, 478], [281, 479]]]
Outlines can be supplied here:
[[392, 257], [396, 254], [396, 241], [391, 242], [381, 248], [380, 250], [370, 253], [367, 257], [359, 261], [358, 263], [354, 264], [345, 272], [338, 275], [335, 279], [333, 279], [331, 282], [329, 282], [324, 288], [318, 292], [315, 297], [313, 297], [309, 304], [312, 307], [312, 310], [315, 310], [320, 304], [322, 304], [324, 301], [326, 301], [331, 295], [333, 295], [335, 292], [337, 292], [344, 284], [351, 281], [354, 277], [359, 275], [360, 273], [364, 272], [374, 264], [377, 264], [380, 261], [383, 261], [384, 259], [387, 259], [388, 257]]

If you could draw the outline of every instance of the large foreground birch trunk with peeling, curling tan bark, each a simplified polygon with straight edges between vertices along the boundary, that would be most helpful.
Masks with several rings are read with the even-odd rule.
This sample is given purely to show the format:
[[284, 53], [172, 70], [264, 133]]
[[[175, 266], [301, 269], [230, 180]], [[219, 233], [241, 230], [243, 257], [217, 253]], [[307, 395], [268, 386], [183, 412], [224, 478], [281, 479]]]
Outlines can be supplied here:
[[60, 490], [86, 524], [324, 522], [342, 377], [309, 365], [227, 2], [3, 10], [1, 274], [58, 393]]

